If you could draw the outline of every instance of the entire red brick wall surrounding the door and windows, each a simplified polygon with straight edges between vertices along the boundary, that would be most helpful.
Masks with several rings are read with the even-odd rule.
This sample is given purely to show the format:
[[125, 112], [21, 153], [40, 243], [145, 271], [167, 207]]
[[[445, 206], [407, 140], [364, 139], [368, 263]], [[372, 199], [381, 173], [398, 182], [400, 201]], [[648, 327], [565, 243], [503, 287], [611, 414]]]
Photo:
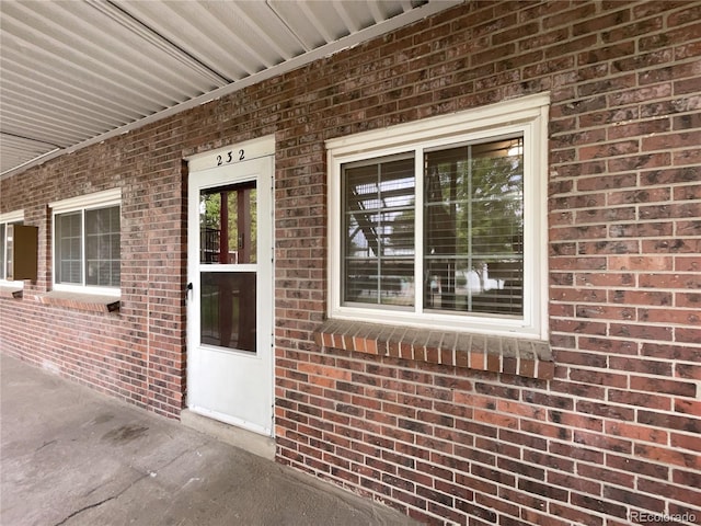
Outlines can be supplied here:
[[[45, 241], [46, 203], [122, 185], [125, 260], [120, 312], [87, 315], [32, 301], [43, 249], [37, 284], [0, 300], [3, 350], [177, 414], [181, 159], [275, 133], [280, 462], [433, 523], [701, 521], [700, 18], [699, 2], [470, 2], [3, 180], [2, 211], [23, 203]], [[555, 378], [318, 347], [323, 140], [541, 91]]]

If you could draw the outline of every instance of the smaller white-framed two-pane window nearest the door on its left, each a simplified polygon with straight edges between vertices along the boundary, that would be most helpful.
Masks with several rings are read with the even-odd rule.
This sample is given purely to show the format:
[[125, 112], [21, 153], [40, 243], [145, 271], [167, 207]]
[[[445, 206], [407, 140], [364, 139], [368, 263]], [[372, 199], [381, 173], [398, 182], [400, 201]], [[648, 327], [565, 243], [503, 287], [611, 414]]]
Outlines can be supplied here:
[[117, 188], [50, 205], [56, 290], [118, 294], [119, 196]]

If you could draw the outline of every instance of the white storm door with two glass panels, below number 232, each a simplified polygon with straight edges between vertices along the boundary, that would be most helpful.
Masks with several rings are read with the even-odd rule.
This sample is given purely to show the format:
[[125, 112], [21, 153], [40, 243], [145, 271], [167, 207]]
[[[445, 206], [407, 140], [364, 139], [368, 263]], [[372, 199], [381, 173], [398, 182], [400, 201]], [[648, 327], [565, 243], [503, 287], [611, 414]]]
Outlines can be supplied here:
[[187, 405], [273, 434], [273, 157], [191, 172]]

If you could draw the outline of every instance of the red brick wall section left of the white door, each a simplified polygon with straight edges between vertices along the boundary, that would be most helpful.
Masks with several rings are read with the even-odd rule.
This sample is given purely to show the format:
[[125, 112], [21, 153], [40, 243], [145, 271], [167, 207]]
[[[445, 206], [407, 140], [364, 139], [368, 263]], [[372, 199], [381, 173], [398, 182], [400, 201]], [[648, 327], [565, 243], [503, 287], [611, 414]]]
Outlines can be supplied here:
[[[161, 129], [171, 127], [143, 128], [2, 181], [2, 210], [23, 208], [24, 222], [39, 227], [39, 276], [25, 282], [23, 299], [0, 299], [0, 335], [3, 352], [177, 416], [185, 376], [184, 180], [180, 150], [153, 152]], [[39, 302], [51, 286], [48, 203], [114, 186], [123, 198], [120, 311]]]

